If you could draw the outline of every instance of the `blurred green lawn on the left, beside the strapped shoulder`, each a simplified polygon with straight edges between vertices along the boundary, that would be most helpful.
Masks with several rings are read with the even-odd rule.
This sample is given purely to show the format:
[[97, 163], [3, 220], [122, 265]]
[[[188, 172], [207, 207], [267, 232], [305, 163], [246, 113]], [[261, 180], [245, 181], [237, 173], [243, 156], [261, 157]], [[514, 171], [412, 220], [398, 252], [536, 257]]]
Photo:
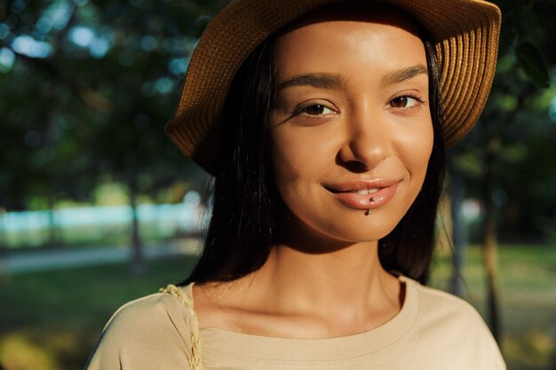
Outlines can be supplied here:
[[[0, 364], [5, 370], [82, 369], [107, 319], [123, 303], [187, 277], [193, 260], [14, 275], [0, 280]], [[1, 368], [1, 366], [0, 366]]]

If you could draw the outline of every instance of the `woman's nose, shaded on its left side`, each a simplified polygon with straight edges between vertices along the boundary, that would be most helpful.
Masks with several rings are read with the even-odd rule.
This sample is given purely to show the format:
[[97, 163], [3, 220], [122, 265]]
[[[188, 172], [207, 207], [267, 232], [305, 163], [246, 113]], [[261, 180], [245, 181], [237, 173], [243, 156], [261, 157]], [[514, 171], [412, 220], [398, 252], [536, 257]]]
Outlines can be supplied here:
[[338, 159], [356, 172], [375, 168], [391, 153], [389, 127], [385, 117], [369, 108], [353, 110], [344, 124], [345, 139]]

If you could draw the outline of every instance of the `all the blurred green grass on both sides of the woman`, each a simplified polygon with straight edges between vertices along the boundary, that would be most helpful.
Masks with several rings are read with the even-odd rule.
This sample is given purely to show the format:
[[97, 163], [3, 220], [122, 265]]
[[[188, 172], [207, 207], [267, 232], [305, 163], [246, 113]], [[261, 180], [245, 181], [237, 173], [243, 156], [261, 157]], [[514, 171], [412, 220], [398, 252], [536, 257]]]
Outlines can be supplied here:
[[[465, 298], [484, 313], [479, 248], [467, 260]], [[184, 257], [151, 262], [140, 277], [127, 264], [107, 264], [0, 278], [0, 364], [82, 369], [117, 307], [183, 279], [192, 265]], [[449, 275], [449, 254], [439, 253], [431, 285], [448, 287]], [[500, 248], [499, 287], [508, 369], [556, 369], [556, 248]]]

